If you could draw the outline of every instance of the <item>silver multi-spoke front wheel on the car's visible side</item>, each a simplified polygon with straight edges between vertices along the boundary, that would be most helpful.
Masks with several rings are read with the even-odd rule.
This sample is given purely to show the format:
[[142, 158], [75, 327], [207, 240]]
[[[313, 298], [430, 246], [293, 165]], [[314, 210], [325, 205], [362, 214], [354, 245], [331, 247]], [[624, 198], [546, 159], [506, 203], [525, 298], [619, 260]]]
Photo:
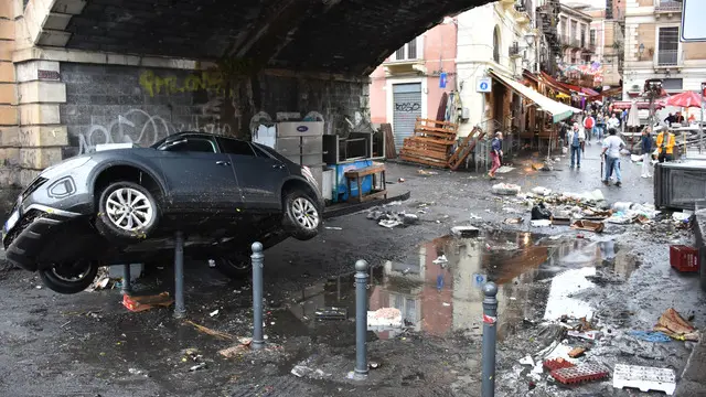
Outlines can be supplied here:
[[100, 194], [96, 227], [109, 238], [143, 239], [159, 219], [157, 201], [147, 189], [132, 182], [114, 182]]

